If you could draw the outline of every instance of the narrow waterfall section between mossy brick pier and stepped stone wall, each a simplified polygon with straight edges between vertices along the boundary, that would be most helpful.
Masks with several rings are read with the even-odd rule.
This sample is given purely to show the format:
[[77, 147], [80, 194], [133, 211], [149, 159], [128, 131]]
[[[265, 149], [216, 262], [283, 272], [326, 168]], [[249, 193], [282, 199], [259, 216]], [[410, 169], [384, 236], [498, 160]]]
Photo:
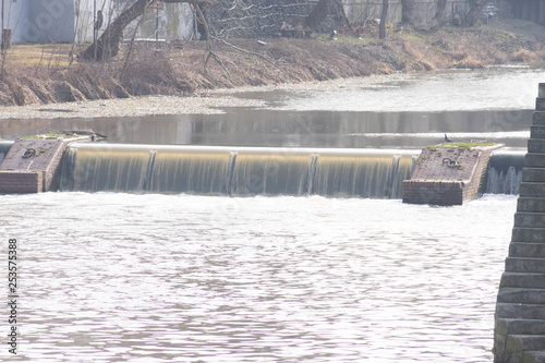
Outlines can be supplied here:
[[488, 164], [486, 193], [519, 194], [525, 150], [494, 152]]

